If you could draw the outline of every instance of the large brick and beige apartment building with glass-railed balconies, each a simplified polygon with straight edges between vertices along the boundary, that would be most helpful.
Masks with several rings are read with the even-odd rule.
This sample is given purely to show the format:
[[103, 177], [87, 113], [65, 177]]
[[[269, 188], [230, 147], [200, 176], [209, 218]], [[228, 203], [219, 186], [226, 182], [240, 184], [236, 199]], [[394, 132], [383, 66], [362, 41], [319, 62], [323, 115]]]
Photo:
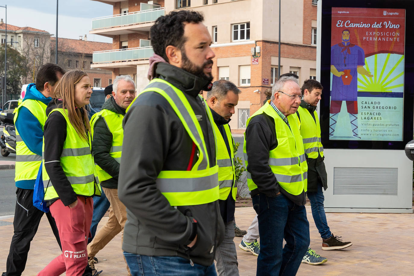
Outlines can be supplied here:
[[[298, 74], [299, 83], [316, 78], [317, 0], [282, 0], [280, 66], [279, 1], [95, 1], [113, 5], [113, 15], [92, 19], [90, 33], [113, 38], [113, 47], [94, 52], [91, 67], [111, 70], [113, 77], [130, 74], [138, 91], [148, 84], [148, 58], [153, 54], [149, 29], [156, 18], [173, 10], [202, 12], [216, 54], [214, 80], [227, 79], [242, 91], [229, 123], [233, 133], [244, 132], [247, 118], [262, 106], [264, 91], [272, 87], [279, 70]], [[253, 57], [252, 48], [260, 53]]]

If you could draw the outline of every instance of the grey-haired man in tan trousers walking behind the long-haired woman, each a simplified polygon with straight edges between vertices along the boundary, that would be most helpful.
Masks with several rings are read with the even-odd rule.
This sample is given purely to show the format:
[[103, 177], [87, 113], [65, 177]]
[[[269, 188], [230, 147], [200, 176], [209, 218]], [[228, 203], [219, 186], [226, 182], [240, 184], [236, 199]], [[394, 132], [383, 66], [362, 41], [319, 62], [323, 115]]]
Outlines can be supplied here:
[[[126, 108], [135, 98], [135, 82], [130, 75], [117, 76], [112, 84], [112, 96], [102, 110], [91, 118], [92, 153], [96, 163], [99, 184], [111, 204], [109, 218], [89, 243], [89, 266], [96, 272], [94, 257], [113, 237], [123, 231], [127, 220], [125, 205], [118, 198], [118, 175], [122, 153], [122, 120]], [[122, 239], [122, 238], [121, 238]], [[129, 268], [128, 275], [130, 274]]]

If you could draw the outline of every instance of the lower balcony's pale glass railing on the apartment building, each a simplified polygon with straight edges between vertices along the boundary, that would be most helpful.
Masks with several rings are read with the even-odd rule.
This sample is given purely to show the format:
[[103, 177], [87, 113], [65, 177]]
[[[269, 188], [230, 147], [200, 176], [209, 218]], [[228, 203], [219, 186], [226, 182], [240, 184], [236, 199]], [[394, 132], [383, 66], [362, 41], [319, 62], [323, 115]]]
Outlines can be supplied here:
[[92, 54], [94, 64], [105, 65], [113, 62], [128, 62], [149, 59], [154, 54], [152, 47], [97, 51]]

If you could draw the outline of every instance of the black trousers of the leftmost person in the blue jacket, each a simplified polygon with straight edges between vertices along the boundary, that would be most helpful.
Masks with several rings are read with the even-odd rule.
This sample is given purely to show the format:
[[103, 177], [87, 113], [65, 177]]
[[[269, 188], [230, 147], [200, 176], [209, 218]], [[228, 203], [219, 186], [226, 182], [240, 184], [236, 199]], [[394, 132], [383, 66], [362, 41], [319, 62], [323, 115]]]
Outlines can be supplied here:
[[[2, 276], [20, 276], [24, 271], [27, 261], [27, 254], [30, 249], [30, 242], [39, 227], [40, 220], [44, 212], [33, 206], [33, 190], [17, 188], [16, 190], [16, 209], [14, 211], [14, 235], [10, 243], [10, 252], [7, 257], [6, 271]], [[59, 244], [60, 238], [55, 219], [51, 213], [46, 213], [46, 217], [52, 227], [53, 234]]]

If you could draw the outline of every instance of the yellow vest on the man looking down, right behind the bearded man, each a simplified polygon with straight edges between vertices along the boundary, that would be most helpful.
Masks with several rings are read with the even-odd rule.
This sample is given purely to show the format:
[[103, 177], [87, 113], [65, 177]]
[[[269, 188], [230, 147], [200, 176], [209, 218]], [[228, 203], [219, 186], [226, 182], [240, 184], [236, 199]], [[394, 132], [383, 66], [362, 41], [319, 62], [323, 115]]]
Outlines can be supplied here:
[[230, 190], [234, 200], [236, 200], [237, 187], [236, 176], [234, 168], [234, 140], [231, 136], [230, 127], [228, 124], [223, 125], [226, 132], [227, 141], [229, 141], [231, 156], [227, 150], [226, 143], [219, 130], [219, 127], [214, 123], [214, 131], [216, 132], [216, 146], [217, 146], [217, 165], [219, 165], [219, 199], [226, 200], [229, 196]]

